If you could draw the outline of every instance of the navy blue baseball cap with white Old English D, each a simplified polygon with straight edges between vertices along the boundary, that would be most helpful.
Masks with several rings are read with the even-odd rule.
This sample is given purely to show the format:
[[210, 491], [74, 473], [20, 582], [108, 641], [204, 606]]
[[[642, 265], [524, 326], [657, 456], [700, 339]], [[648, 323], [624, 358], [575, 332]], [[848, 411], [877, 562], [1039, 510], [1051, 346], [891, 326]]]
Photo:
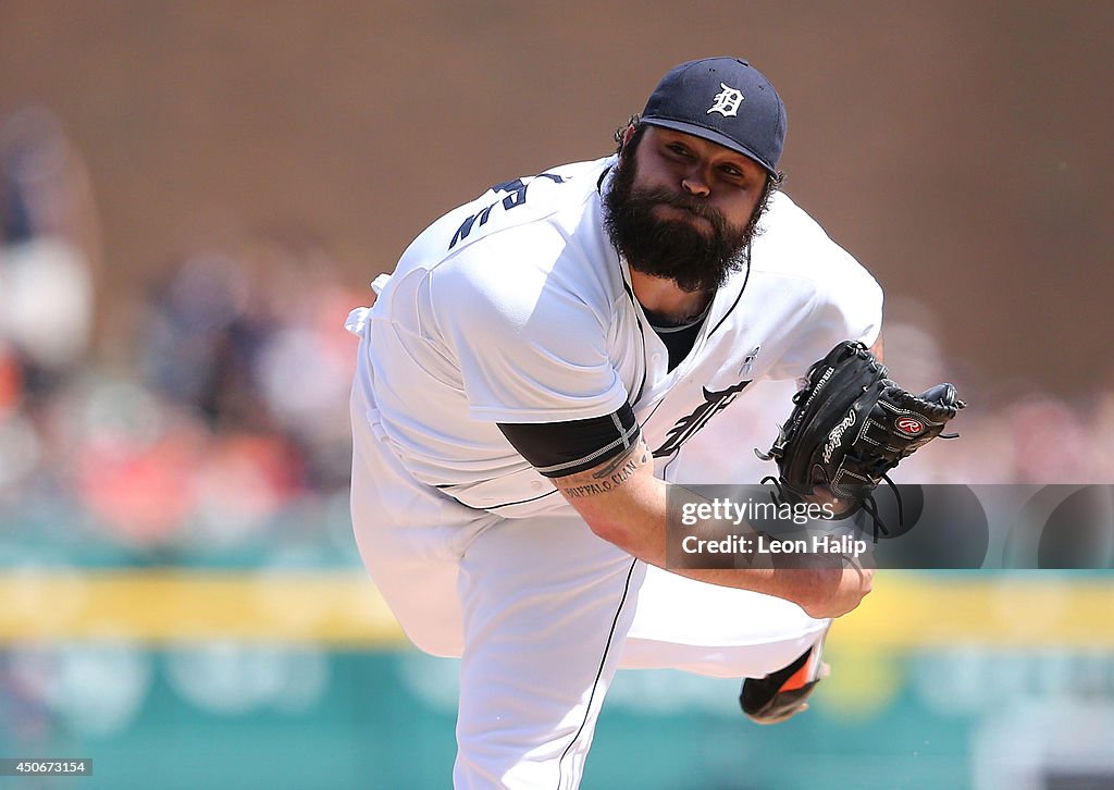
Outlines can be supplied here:
[[761, 71], [739, 58], [705, 58], [670, 70], [642, 120], [737, 150], [778, 175], [785, 105]]

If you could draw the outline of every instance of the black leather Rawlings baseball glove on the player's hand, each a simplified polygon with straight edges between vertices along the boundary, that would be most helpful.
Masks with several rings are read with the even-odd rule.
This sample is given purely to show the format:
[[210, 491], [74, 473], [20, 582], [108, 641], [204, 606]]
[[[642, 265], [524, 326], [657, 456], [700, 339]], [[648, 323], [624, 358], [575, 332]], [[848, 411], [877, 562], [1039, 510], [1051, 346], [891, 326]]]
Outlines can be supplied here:
[[887, 472], [902, 458], [938, 436], [954, 438], [944, 428], [965, 406], [951, 384], [907, 392], [866, 345], [843, 341], [809, 369], [770, 451], [755, 450], [778, 462], [778, 477], [763, 482], [773, 481], [783, 501], [831, 504], [833, 518], [866, 508], [877, 539], [887, 530], [872, 491], [891, 482]]

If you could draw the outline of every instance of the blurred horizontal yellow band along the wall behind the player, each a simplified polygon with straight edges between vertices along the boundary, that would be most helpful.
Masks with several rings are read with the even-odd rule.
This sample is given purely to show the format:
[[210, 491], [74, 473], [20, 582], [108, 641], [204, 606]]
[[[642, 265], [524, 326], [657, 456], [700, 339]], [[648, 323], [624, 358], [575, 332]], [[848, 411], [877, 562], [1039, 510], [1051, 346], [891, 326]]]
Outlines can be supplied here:
[[[839, 621], [842, 648], [1114, 648], [1110, 577], [882, 572], [874, 589]], [[22, 640], [404, 644], [368, 577], [349, 570], [9, 569], [0, 574], [0, 641]]]

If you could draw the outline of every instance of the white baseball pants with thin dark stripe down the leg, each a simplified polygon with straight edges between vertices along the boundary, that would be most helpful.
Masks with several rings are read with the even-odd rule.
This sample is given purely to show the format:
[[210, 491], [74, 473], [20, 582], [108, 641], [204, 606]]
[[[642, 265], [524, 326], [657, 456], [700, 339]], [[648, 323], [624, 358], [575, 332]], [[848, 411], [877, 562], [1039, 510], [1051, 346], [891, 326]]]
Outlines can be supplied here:
[[647, 567], [571, 508], [508, 519], [465, 507], [409, 475], [365, 398], [355, 387], [356, 544], [410, 640], [461, 657], [457, 788], [576, 788], [617, 669], [762, 676], [828, 626]]

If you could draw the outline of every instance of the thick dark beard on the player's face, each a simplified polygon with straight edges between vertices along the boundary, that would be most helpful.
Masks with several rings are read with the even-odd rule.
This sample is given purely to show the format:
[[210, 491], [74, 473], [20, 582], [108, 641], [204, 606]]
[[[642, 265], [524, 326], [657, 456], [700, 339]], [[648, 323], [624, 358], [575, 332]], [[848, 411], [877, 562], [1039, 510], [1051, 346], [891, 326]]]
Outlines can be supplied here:
[[[697, 198], [666, 189], [635, 189], [636, 174], [635, 147], [628, 146], [619, 157], [612, 188], [604, 195], [604, 226], [627, 265], [643, 274], [672, 280], [688, 293], [722, 287], [745, 264], [765, 202], [760, 199], [750, 222], [739, 228]], [[653, 211], [659, 205], [703, 217], [711, 224], [711, 232], [702, 233], [684, 220], [656, 218]]]

